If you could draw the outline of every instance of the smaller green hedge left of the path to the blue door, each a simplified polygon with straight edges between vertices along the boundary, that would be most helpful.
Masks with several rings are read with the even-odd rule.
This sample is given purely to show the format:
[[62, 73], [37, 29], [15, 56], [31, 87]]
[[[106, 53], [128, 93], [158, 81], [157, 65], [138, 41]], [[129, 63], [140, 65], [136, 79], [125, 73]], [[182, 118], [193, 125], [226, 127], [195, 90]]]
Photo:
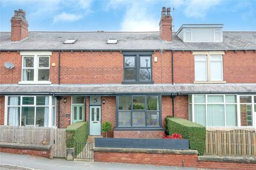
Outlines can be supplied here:
[[[71, 124], [66, 129], [66, 146], [67, 148], [75, 148], [76, 143], [86, 143], [88, 138], [88, 122], [76, 122]], [[81, 146], [81, 145], [79, 145]], [[83, 147], [76, 148], [76, 153], [79, 154]]]

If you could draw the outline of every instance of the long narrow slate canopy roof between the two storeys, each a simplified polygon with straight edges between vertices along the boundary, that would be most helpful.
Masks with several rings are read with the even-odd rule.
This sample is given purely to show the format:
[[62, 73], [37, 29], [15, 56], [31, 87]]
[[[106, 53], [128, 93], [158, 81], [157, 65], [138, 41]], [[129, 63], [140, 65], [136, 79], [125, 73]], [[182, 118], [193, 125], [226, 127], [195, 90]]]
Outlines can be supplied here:
[[233, 84], [0, 84], [4, 94], [115, 95], [115, 94], [256, 94], [256, 83]]

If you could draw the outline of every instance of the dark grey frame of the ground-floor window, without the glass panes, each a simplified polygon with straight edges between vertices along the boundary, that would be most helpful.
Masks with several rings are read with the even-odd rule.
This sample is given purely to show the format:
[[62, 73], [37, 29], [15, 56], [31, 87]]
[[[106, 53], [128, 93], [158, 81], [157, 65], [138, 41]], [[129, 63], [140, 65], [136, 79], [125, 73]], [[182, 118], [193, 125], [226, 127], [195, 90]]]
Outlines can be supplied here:
[[[118, 97], [122, 97], [122, 96], [130, 96], [131, 97], [131, 126], [118, 126]], [[141, 110], [141, 111], [145, 111], [145, 126], [132, 126], [132, 113], [133, 113], [133, 97], [134, 96], [143, 96], [145, 97], [145, 109]], [[147, 125], [147, 112], [155, 112], [155, 111], [148, 111], [147, 110], [147, 97], [148, 96], [157, 96], [158, 97], [158, 115], [159, 115], [159, 125], [158, 126], [150, 126]], [[140, 111], [140, 110], [134, 110], [136, 111]], [[121, 111], [121, 112], [126, 112], [126, 111]], [[163, 129], [162, 128], [162, 95], [159, 94], [123, 94], [123, 95], [117, 95], [116, 96], [116, 130], [125, 130], [125, 129], [145, 129], [145, 130], [159, 130], [159, 129]]]

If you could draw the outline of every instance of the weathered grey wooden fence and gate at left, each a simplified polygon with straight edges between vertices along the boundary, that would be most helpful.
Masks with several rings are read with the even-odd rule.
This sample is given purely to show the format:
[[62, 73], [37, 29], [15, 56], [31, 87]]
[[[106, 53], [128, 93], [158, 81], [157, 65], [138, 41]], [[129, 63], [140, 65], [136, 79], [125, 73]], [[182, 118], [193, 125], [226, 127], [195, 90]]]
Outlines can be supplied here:
[[66, 157], [65, 129], [0, 125], [0, 142], [51, 145], [52, 157]]

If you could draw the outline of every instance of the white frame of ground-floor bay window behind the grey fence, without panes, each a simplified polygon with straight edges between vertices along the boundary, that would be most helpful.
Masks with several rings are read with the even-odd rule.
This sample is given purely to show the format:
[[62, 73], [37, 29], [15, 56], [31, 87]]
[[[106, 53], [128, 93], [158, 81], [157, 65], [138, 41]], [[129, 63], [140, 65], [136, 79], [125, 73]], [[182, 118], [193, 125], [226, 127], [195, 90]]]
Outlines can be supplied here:
[[[9, 107], [19, 107], [19, 111], [20, 111], [20, 120], [19, 120], [19, 126], [22, 126], [21, 125], [21, 115], [22, 115], [22, 107], [35, 107], [35, 114], [34, 114], [34, 126], [33, 127], [36, 127], [36, 108], [37, 107], [48, 107], [49, 108], [49, 111], [48, 111], [48, 126], [45, 127], [45, 128], [48, 128], [48, 127], [55, 127], [56, 126], [56, 109], [55, 109], [55, 125], [52, 125], [52, 108], [55, 107], [56, 108], [56, 100], [55, 99], [55, 105], [52, 105], [52, 98], [54, 96], [49, 96], [49, 95], [39, 95], [39, 96], [45, 96], [45, 97], [49, 97], [49, 105], [36, 105], [36, 97], [37, 96], [29, 96], [29, 95], [15, 95], [15, 96], [5, 96], [5, 111], [4, 111], [4, 125], [7, 125], [7, 114], [8, 114], [8, 108]], [[39, 97], [38, 96], [38, 97]], [[8, 98], [9, 97], [20, 97], [20, 105], [18, 106], [10, 106], [8, 105]], [[23, 100], [23, 97], [34, 97], [34, 104], [33, 105], [23, 105], [22, 104], [22, 100]], [[41, 128], [44, 126], [40, 126]]]

